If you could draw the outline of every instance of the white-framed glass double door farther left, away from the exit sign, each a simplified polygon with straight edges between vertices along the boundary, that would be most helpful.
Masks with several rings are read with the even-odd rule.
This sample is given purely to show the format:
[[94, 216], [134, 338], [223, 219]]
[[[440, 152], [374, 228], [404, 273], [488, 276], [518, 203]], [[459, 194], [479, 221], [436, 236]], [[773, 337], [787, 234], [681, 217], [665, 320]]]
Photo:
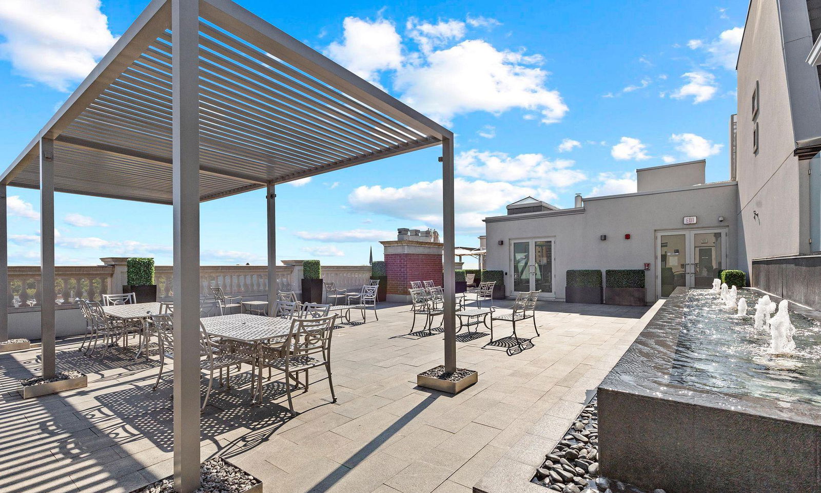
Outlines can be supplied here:
[[553, 246], [552, 238], [511, 240], [514, 294], [541, 291], [542, 295], [553, 296]]

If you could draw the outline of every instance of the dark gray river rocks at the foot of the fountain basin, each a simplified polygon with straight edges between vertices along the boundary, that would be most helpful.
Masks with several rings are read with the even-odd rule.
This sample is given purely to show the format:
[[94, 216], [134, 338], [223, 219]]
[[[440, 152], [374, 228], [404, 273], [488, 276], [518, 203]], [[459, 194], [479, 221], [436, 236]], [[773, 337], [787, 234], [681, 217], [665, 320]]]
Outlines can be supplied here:
[[[544, 456], [530, 482], [561, 493], [649, 493], [636, 486], [599, 477], [599, 404], [594, 398], [570, 429]], [[652, 493], [665, 493], [654, 490]]]

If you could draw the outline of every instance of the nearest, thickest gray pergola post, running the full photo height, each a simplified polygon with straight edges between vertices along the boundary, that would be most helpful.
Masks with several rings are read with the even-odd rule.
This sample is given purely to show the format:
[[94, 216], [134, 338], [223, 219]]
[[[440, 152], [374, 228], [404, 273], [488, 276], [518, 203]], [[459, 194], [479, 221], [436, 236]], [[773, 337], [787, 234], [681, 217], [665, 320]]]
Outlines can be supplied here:
[[200, 486], [199, 0], [172, 0], [174, 489]]

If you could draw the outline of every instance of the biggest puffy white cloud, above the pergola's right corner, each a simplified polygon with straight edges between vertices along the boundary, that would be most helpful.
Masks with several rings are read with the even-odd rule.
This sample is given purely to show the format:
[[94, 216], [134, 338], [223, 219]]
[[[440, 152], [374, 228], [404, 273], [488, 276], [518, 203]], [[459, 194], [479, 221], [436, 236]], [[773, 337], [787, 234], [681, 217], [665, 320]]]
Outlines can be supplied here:
[[544, 83], [548, 72], [539, 56], [499, 51], [480, 39], [429, 53], [423, 62], [397, 71], [394, 89], [412, 107], [444, 124], [460, 113], [500, 114], [513, 108], [541, 113], [544, 123], [559, 122], [567, 106]]

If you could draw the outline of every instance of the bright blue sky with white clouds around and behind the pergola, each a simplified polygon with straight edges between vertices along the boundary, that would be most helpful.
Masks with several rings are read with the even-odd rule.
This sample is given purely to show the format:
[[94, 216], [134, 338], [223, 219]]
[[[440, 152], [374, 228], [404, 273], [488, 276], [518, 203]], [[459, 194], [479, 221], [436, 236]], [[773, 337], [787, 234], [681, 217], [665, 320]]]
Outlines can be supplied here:
[[[23, 149], [147, 0], [0, 5], [0, 162]], [[241, 5], [456, 133], [456, 244], [534, 195], [635, 191], [635, 168], [706, 158], [727, 179], [747, 2]], [[396, 228], [441, 228], [439, 150], [277, 187], [277, 256], [360, 265]], [[9, 263], [39, 264], [39, 194], [10, 188]], [[172, 260], [172, 210], [58, 194], [57, 263]], [[264, 192], [202, 205], [204, 265], [264, 264]]]

